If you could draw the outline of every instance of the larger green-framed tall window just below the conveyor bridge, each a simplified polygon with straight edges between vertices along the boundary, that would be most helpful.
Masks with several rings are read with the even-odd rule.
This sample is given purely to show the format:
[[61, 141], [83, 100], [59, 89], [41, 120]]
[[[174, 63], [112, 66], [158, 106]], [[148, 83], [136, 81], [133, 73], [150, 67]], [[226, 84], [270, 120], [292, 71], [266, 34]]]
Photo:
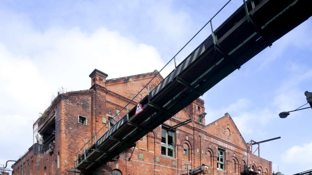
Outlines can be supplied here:
[[161, 129], [161, 154], [174, 157], [174, 133]]

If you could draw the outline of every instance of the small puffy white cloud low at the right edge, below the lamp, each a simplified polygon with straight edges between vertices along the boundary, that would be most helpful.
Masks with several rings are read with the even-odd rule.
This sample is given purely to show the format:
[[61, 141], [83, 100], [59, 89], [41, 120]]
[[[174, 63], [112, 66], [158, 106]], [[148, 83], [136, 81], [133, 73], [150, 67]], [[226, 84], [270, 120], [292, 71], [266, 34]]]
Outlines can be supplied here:
[[287, 149], [284, 154], [282, 154], [283, 162], [287, 164], [301, 164], [308, 165], [306, 168], [312, 165], [312, 141], [308, 144], [295, 145], [290, 149]]

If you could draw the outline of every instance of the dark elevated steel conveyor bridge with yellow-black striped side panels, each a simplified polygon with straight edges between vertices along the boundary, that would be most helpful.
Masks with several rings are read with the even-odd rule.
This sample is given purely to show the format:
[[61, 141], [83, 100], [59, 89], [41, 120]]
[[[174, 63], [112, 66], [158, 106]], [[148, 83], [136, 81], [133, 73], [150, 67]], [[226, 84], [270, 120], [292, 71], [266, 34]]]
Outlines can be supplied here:
[[311, 0], [243, 1], [216, 30], [188, 55], [140, 104], [90, 148], [75, 155], [80, 173], [95, 172], [136, 141], [200, 97], [223, 78], [307, 20]]

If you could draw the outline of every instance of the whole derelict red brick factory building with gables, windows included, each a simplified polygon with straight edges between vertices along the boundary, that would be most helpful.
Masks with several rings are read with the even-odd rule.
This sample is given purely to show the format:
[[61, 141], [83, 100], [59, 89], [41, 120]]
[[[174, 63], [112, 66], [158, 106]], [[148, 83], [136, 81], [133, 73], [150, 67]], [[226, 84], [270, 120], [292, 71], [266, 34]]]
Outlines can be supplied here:
[[[100, 130], [96, 135], [100, 137], [119, 120], [119, 116], [126, 115], [124, 106], [157, 73], [155, 70], [106, 79], [107, 74], [95, 69], [90, 74], [90, 89], [59, 94], [34, 123], [35, 144], [14, 163], [12, 174], [76, 174], [76, 170], [72, 169], [75, 167], [74, 155], [86, 143], [86, 147], [94, 143], [92, 138], [97, 131]], [[162, 80], [163, 77], [158, 74], [149, 88], [153, 89]], [[129, 108], [147, 93], [146, 88], [130, 102]], [[115, 121], [110, 120], [118, 113]], [[229, 114], [208, 125], [205, 125], [205, 115], [204, 101], [198, 98], [145, 135], [136, 147], [124, 150], [103, 165], [96, 174], [177, 175], [202, 164], [207, 165], [208, 173], [213, 175], [243, 174], [241, 168], [247, 165], [257, 173], [272, 174], [272, 162], [251, 154]], [[189, 119], [192, 122], [175, 130], [167, 130]]]

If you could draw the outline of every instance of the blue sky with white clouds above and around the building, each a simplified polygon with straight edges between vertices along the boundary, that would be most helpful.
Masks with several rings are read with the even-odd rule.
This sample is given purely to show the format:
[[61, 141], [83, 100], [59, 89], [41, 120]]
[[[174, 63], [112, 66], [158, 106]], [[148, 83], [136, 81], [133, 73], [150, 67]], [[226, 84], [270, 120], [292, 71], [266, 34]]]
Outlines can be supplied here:
[[[226, 1], [0, 1], [0, 164], [32, 145], [32, 124], [60, 88], [90, 88], [99, 69], [117, 78], [162, 67]], [[242, 1], [214, 19], [217, 28]], [[203, 95], [206, 124], [228, 112], [246, 142], [261, 144], [273, 171], [312, 168], [312, 110], [291, 111], [312, 91], [312, 21], [256, 55]], [[206, 27], [176, 57], [180, 63], [208, 35]], [[173, 62], [163, 69], [165, 77]], [[308, 107], [308, 105], [304, 106]]]

